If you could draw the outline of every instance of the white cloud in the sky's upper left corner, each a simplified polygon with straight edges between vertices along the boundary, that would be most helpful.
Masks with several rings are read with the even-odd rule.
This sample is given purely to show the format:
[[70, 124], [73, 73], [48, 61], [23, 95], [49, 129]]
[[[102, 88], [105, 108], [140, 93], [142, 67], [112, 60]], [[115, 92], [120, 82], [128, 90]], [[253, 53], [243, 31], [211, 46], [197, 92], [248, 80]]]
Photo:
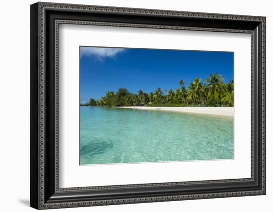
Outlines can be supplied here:
[[105, 57], [115, 57], [119, 52], [123, 52], [122, 48], [102, 48], [102, 47], [80, 47], [80, 56], [95, 56], [98, 59]]

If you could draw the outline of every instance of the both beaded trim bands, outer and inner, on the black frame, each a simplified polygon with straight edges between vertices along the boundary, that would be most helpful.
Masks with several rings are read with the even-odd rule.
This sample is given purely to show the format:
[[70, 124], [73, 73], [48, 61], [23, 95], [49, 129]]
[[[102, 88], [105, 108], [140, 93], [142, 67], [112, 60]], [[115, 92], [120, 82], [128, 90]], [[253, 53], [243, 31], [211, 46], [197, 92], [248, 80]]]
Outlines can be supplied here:
[[[154, 14], [165, 16], [188, 16], [188, 17], [205, 17], [217, 19], [231, 20], [253, 20], [262, 22], [262, 190], [245, 191], [245, 192], [223, 192], [197, 195], [178, 195], [178, 196], [162, 196], [150, 198], [128, 198], [128, 199], [113, 199], [103, 201], [82, 201], [71, 203], [44, 203], [44, 14], [46, 8], [59, 8], [69, 10], [85, 10], [85, 11], [102, 11], [102, 12], [118, 12], [127, 14]], [[103, 25], [117, 27], [141, 27], [141, 28], [161, 28], [161, 29], [180, 29], [180, 30], [197, 30], [197, 31], [221, 31], [221, 32], [238, 32], [251, 33], [251, 178], [248, 179], [230, 179], [230, 180], [215, 180], [215, 181], [193, 181], [193, 182], [176, 182], [176, 183], [159, 183], [159, 184], [136, 184], [136, 185], [121, 185], [121, 186], [105, 186], [105, 187], [79, 187], [79, 188], [59, 188], [58, 186], [58, 33], [59, 24], [85, 24], [85, 25]], [[183, 12], [183, 11], [167, 11], [153, 9], [138, 9], [138, 8], [122, 8], [122, 7], [106, 7], [106, 6], [91, 6], [77, 4], [62, 4], [62, 3], [46, 3], [39, 2], [39, 209], [52, 208], [70, 208], [70, 207], [86, 207], [86, 206], [102, 206], [115, 204], [132, 204], [145, 202], [162, 202], [176, 200], [191, 200], [191, 199], [207, 199], [220, 197], [236, 197], [236, 196], [251, 196], [263, 195], [266, 193], [266, 18], [259, 16], [245, 15], [230, 15], [230, 14], [213, 14], [199, 12]], [[162, 26], [162, 25], [144, 25], [144, 24], [125, 24], [125, 23], [107, 23], [107, 22], [91, 22], [91, 21], [72, 21], [72, 20], [55, 20], [55, 171], [56, 171], [56, 191], [82, 191], [82, 190], [99, 190], [113, 188], [134, 188], [134, 187], [151, 187], [151, 186], [170, 186], [170, 185], [186, 185], [198, 183], [222, 183], [222, 182], [242, 182], [253, 180], [253, 81], [254, 81], [254, 65], [253, 65], [253, 32], [248, 30], [231, 30], [231, 29], [208, 29], [197, 27], [179, 27], [179, 26]]]

